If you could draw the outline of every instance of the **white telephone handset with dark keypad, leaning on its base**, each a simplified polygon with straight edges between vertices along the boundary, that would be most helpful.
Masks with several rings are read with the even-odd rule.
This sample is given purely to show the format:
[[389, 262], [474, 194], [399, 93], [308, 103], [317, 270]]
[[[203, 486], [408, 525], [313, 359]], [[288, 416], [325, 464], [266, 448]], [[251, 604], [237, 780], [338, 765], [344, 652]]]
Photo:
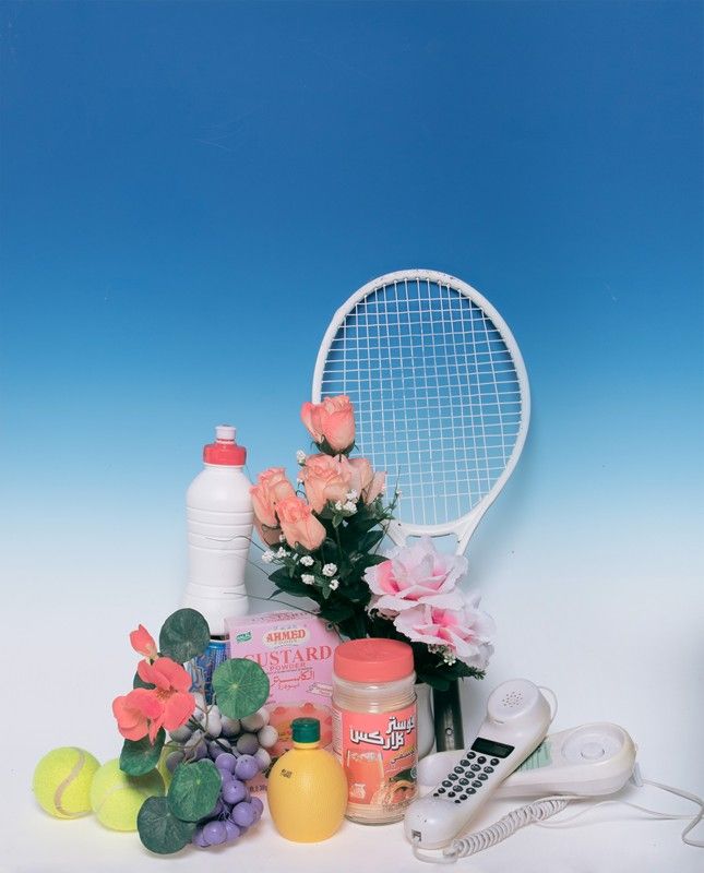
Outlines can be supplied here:
[[552, 715], [540, 690], [527, 679], [513, 679], [494, 689], [472, 746], [431, 794], [414, 801], [406, 811], [406, 837], [422, 849], [446, 846], [536, 750]]

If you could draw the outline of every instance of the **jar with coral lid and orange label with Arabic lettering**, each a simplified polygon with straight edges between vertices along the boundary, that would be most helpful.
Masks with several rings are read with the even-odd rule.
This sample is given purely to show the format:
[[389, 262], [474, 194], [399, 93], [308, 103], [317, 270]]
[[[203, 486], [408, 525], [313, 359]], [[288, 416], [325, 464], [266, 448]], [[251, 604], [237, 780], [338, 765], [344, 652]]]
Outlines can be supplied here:
[[395, 639], [350, 639], [333, 661], [333, 751], [347, 776], [347, 818], [398, 822], [417, 792], [413, 649]]

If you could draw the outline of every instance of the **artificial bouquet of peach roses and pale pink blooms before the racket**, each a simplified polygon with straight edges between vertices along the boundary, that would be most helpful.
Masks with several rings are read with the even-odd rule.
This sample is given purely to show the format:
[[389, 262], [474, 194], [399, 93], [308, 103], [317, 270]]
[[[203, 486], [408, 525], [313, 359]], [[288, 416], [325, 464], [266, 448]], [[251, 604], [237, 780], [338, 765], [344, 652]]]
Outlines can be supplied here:
[[418, 681], [438, 690], [482, 678], [494, 624], [479, 595], [457, 587], [466, 559], [438, 552], [429, 537], [380, 554], [398, 494], [384, 503], [385, 473], [350, 456], [353, 404], [345, 395], [305, 403], [301, 419], [318, 452], [298, 452], [298, 488], [272, 467], [251, 489], [274, 594], [314, 600], [345, 637], [409, 643]]

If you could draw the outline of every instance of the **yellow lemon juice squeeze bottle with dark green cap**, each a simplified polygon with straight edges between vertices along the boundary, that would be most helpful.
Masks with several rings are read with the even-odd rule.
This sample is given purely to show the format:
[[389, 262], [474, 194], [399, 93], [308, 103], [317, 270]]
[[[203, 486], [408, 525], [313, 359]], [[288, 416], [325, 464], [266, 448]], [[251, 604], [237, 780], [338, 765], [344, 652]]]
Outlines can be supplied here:
[[291, 721], [294, 748], [269, 775], [266, 797], [278, 833], [295, 842], [319, 842], [337, 830], [347, 808], [347, 777], [334, 755], [320, 748], [320, 721]]

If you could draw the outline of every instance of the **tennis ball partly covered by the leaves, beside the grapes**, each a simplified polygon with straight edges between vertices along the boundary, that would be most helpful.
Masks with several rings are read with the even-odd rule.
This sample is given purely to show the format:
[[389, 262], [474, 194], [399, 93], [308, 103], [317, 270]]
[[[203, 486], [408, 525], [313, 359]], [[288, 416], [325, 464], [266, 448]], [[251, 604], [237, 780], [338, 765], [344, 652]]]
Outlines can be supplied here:
[[108, 761], [93, 777], [91, 806], [98, 822], [112, 830], [136, 830], [136, 814], [147, 798], [164, 794], [164, 779], [156, 770], [128, 776], [118, 758]]

